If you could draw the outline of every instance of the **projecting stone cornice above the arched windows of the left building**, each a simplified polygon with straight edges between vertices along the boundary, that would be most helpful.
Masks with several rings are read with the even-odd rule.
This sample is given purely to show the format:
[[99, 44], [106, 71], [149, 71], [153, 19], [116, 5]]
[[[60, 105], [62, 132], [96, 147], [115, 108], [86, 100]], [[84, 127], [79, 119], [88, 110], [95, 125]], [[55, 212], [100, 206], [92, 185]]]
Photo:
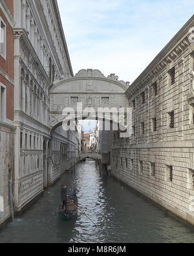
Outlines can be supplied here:
[[[41, 71], [41, 74], [45, 77], [45, 80], [47, 80], [47, 84], [49, 87], [51, 86], [50, 80], [48, 78], [47, 72], [45, 71], [43, 65], [41, 64], [41, 61], [39, 60], [39, 57], [34, 50], [34, 47], [32, 46], [32, 43], [30, 42], [28, 38], [28, 34], [25, 29], [14, 29], [14, 38], [19, 37], [21, 40], [21, 43], [25, 45], [26, 51], [28, 51], [28, 54], [30, 54], [34, 60], [34, 65], [36, 65], [36, 69]], [[15, 56], [15, 57], [20, 57], [21, 56]]]

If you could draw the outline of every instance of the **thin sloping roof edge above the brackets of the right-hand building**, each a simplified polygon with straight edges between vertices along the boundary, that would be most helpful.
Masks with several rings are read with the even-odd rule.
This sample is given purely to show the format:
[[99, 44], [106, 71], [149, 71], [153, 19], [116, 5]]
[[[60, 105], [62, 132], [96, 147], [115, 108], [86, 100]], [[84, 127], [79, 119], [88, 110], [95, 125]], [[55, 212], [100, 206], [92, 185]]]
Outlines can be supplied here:
[[175, 34], [175, 36], [173, 36], [173, 38], [169, 41], [169, 43], [167, 43], [167, 45], [162, 49], [162, 51], [160, 51], [156, 55], [153, 61], [135, 79], [135, 81], [131, 84], [131, 86], [129, 86], [128, 90], [130, 90], [136, 84], [139, 84], [141, 80], [155, 67], [155, 65], [158, 64], [158, 62], [160, 62], [162, 58], [164, 58], [164, 56], [166, 56], [167, 53], [171, 51], [173, 47], [175, 47], [175, 44], [177, 44], [178, 41], [180, 41], [184, 35], [188, 34], [189, 29], [193, 26], [194, 26], [194, 15], [190, 17], [190, 19], [186, 22], [186, 24], [180, 30], [178, 30], [177, 34]]

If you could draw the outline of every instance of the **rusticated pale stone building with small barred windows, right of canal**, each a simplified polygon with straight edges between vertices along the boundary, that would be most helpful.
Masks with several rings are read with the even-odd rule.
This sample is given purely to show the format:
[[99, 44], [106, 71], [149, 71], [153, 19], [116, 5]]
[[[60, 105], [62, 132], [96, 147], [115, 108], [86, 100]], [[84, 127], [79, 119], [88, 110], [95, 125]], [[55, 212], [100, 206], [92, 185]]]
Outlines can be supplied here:
[[113, 175], [194, 224], [194, 16], [126, 95], [133, 135], [113, 134]]

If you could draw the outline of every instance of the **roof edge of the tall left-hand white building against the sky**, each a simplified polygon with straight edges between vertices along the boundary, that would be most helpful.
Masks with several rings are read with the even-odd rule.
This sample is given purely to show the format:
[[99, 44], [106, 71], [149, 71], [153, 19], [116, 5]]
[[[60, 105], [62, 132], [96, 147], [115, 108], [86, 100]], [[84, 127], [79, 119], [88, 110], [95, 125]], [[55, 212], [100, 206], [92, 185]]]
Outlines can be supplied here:
[[71, 65], [71, 62], [70, 62], [69, 51], [68, 51], [68, 47], [67, 47], [67, 41], [65, 39], [65, 33], [64, 33], [64, 30], [63, 30], [62, 22], [61, 22], [61, 15], [60, 15], [60, 12], [59, 12], [58, 1], [54, 0], [53, 4], [54, 4], [54, 8], [56, 8], [56, 12], [59, 14], [58, 25], [59, 25], [59, 28], [61, 29], [61, 31], [60, 31], [61, 32], [61, 38], [63, 39], [63, 47], [65, 49], [65, 53], [66, 53], [66, 56], [67, 56], [69, 69], [70, 69], [70, 75], [74, 76], [74, 73], [73, 73], [73, 70], [72, 70], [72, 65]]

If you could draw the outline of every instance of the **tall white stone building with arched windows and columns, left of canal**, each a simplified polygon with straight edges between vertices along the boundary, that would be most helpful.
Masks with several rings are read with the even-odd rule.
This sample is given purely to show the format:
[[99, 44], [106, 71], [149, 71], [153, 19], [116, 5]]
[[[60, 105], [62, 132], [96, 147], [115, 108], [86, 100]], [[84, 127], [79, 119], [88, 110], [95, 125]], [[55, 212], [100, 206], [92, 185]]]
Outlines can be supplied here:
[[73, 76], [57, 1], [14, 4], [14, 205], [20, 211], [74, 165], [76, 134], [49, 126], [50, 88]]

